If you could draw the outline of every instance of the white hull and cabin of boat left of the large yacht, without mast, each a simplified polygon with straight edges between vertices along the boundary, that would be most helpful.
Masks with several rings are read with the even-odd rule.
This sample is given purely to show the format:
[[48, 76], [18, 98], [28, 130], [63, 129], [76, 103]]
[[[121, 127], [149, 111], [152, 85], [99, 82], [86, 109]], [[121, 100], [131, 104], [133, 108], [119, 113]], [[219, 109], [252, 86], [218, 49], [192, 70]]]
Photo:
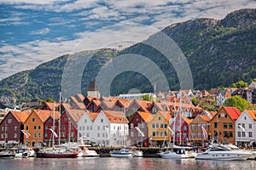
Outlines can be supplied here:
[[186, 159], [195, 158], [196, 153], [191, 147], [174, 147], [159, 154], [164, 159]]

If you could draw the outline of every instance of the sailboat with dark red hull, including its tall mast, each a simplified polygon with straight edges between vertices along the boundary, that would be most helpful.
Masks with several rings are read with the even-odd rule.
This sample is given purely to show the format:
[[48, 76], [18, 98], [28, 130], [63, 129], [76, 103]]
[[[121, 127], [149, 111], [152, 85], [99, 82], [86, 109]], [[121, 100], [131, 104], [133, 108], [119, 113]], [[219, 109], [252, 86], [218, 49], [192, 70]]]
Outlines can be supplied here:
[[[61, 105], [61, 104], [60, 104]], [[68, 148], [55, 147], [55, 137], [58, 135], [55, 133], [55, 103], [53, 105], [53, 127], [49, 128], [52, 132], [52, 147], [39, 150], [37, 157], [41, 158], [76, 158], [79, 155], [78, 151], [69, 150]]]

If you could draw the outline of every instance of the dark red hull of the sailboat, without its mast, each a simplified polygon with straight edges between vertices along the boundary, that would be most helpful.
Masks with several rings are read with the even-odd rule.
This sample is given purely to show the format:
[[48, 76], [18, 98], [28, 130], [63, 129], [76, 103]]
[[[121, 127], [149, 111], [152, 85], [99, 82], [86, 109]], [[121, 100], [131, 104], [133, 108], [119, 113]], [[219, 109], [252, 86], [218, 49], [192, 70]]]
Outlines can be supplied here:
[[40, 158], [76, 158], [79, 152], [73, 150], [67, 150], [66, 148], [46, 148], [39, 150], [37, 157]]

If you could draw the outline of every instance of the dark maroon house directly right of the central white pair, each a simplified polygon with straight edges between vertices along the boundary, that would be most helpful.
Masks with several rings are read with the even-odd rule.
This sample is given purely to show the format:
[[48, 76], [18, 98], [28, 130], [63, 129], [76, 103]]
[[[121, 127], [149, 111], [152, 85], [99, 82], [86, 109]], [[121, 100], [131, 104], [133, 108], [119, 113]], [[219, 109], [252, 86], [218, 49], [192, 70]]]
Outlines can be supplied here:
[[137, 111], [129, 122], [129, 137], [131, 145], [148, 146], [148, 122], [153, 116], [149, 112]]

